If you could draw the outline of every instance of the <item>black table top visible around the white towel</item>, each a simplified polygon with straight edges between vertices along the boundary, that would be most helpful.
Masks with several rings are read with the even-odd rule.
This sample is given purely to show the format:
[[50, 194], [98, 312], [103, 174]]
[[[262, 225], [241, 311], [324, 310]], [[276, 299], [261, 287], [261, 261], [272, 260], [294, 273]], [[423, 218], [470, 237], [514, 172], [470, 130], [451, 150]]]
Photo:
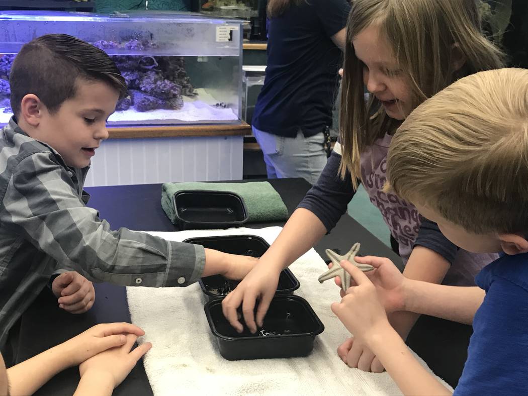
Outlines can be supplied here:
[[[300, 178], [269, 180], [269, 182], [284, 200], [290, 214], [293, 213], [310, 187], [304, 179]], [[142, 231], [177, 231], [161, 207], [161, 184], [90, 187], [86, 190], [91, 194], [88, 206], [97, 209], [100, 218], [107, 220], [112, 229], [126, 227]], [[249, 223], [246, 227], [263, 228], [272, 225], [284, 225], [284, 223]], [[327, 248], [346, 251], [355, 242], [361, 242], [362, 254], [389, 257], [399, 268], [402, 268], [401, 259], [390, 248], [348, 215], [341, 218], [334, 230], [325, 235], [315, 249], [319, 254]], [[64, 342], [95, 324], [130, 322], [125, 288], [105, 283], [97, 284], [95, 287], [95, 304], [89, 312], [82, 315], [71, 315], [59, 309], [51, 291], [43, 290], [21, 319], [17, 362], [29, 359], [37, 353]], [[436, 327], [438, 326], [435, 325]], [[454, 330], [451, 329], [449, 334], [452, 335], [453, 332]], [[425, 346], [424, 353], [428, 351]], [[434, 359], [434, 356], [431, 359]], [[441, 363], [436, 369], [452, 371], [452, 364], [450, 361]], [[437, 374], [446, 376], [438, 371]], [[456, 379], [458, 379], [457, 375], [459, 375], [458, 371], [455, 373]], [[78, 369], [74, 367], [56, 375], [36, 394], [71, 395], [78, 381]], [[142, 396], [152, 394], [142, 361], [138, 362], [114, 394]]]

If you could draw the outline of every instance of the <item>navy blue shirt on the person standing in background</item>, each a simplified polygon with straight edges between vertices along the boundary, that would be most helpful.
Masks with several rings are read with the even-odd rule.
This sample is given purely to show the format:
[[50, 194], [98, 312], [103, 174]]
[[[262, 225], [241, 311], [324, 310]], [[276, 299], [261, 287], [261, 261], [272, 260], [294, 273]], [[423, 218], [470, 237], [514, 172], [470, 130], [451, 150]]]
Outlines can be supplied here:
[[347, 0], [309, 0], [271, 18], [255, 128], [287, 137], [301, 128], [308, 137], [332, 125], [343, 53], [331, 37], [346, 26], [349, 11]]

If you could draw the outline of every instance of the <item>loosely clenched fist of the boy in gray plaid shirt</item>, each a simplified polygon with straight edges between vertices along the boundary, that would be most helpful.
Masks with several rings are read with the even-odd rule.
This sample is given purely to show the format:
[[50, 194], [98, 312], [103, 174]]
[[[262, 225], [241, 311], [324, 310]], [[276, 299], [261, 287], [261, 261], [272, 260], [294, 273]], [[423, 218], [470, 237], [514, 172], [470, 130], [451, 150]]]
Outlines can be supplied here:
[[72, 314], [86, 312], [96, 299], [92, 282], [75, 271], [64, 272], [56, 277], [51, 289], [59, 298], [59, 307]]

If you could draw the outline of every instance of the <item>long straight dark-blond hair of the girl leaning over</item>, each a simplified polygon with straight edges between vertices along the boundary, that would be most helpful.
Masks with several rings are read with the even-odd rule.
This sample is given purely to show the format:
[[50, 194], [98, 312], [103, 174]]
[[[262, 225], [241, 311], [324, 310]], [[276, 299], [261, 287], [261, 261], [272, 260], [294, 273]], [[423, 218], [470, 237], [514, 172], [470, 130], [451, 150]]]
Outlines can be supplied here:
[[[354, 187], [361, 177], [361, 153], [400, 124], [374, 96], [365, 102], [363, 65], [352, 40], [372, 23], [379, 24], [407, 74], [412, 108], [460, 77], [504, 67], [503, 52], [482, 33], [476, 0], [354, 0], [347, 22], [340, 115], [340, 175], [344, 178], [349, 171]], [[453, 67], [455, 52], [465, 59], [459, 70]]]

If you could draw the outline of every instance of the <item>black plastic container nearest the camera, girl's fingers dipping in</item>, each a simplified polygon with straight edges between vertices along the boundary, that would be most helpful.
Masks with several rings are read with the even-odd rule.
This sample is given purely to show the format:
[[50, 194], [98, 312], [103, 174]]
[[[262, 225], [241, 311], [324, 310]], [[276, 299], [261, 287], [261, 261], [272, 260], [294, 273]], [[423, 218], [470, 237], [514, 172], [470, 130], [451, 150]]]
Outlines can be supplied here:
[[222, 314], [222, 301], [204, 306], [220, 354], [227, 360], [306, 356], [317, 334], [325, 329], [308, 302], [298, 296], [275, 296], [262, 328], [251, 334], [244, 326], [239, 334]]

